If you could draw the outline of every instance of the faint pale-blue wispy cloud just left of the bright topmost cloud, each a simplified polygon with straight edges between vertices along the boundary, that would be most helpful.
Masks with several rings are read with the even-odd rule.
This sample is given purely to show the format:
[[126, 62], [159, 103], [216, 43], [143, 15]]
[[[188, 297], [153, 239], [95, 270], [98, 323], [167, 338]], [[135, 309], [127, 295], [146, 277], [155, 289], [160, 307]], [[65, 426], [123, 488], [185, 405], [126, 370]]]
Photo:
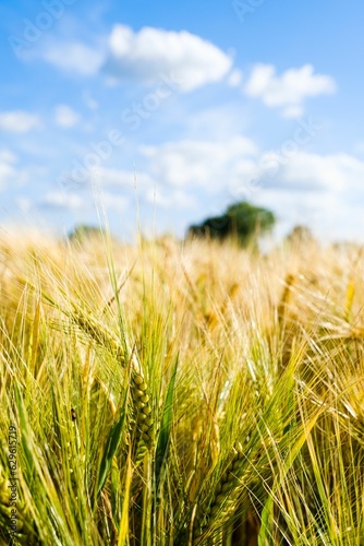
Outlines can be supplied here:
[[88, 76], [98, 72], [104, 61], [102, 48], [86, 46], [81, 41], [51, 41], [36, 55], [65, 72]]

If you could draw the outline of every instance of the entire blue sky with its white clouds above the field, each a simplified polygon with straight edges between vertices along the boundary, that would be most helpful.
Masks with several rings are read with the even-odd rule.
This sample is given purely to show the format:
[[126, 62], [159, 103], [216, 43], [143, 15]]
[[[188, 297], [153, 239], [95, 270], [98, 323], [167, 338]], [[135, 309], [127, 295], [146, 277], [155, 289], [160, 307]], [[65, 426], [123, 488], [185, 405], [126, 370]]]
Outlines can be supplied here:
[[[364, 239], [361, 0], [3, 0], [0, 224], [183, 235], [247, 199]], [[101, 195], [101, 197], [100, 197]]]

